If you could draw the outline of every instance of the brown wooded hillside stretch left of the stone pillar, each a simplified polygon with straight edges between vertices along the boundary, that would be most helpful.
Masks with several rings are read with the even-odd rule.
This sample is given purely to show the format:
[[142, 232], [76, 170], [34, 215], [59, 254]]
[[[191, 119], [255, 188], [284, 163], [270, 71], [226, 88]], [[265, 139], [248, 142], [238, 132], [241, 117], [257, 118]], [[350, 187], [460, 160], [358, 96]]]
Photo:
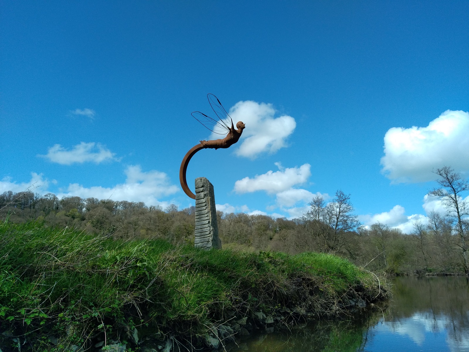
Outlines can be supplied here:
[[47, 226], [68, 227], [118, 238], [163, 238], [177, 244], [194, 239], [194, 207], [178, 211], [172, 204], [147, 207], [143, 202], [80, 197], [57, 198], [27, 191], [0, 195], [0, 216], [12, 222], [43, 221]]

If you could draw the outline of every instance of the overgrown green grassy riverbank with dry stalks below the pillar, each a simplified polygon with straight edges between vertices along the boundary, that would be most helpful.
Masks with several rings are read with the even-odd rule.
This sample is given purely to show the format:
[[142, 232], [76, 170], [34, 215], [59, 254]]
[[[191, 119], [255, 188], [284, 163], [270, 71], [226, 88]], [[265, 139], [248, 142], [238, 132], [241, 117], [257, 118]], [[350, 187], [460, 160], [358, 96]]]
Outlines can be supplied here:
[[0, 224], [0, 270], [4, 352], [23, 340], [23, 351], [116, 340], [136, 348], [170, 335], [200, 345], [220, 339], [225, 321], [339, 314], [387, 295], [374, 275], [333, 255], [203, 251], [37, 222]]

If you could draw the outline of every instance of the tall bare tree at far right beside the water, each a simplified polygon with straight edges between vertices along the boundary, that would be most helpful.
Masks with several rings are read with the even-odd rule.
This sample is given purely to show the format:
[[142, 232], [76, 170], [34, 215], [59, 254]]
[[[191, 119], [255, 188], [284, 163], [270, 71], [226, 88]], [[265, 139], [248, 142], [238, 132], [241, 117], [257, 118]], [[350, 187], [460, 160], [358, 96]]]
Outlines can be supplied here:
[[469, 191], [469, 182], [449, 166], [437, 168], [434, 173], [441, 177], [436, 180], [440, 187], [434, 188], [428, 192], [428, 195], [439, 197], [446, 208], [447, 216], [454, 219], [454, 230], [461, 240], [461, 244], [457, 245], [461, 248], [464, 271], [469, 274], [467, 231], [463, 219], [465, 215], [469, 215], [469, 204], [461, 197], [462, 192]]

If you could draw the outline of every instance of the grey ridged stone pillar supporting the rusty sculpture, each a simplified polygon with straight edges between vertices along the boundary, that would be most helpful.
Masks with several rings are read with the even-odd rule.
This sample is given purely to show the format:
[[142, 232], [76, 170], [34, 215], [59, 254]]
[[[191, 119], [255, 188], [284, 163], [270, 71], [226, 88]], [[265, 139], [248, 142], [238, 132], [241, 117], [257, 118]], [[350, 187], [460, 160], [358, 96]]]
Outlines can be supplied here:
[[205, 177], [196, 178], [196, 233], [194, 246], [221, 249], [213, 185]]

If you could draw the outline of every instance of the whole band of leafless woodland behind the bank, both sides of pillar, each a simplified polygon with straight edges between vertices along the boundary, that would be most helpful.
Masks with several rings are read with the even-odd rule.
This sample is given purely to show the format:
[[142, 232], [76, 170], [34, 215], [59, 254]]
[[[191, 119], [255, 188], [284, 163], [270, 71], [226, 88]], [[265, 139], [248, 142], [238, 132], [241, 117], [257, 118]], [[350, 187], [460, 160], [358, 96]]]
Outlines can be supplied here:
[[[349, 195], [337, 191], [325, 203], [316, 196], [301, 218], [273, 219], [265, 215], [217, 212], [223, 248], [242, 251], [306, 251], [335, 253], [358, 266], [386, 274], [468, 273], [469, 207], [461, 192], [469, 184], [458, 173], [438, 169], [440, 188], [429, 194], [442, 199], [446, 216], [429, 214], [428, 224], [414, 223], [403, 234], [382, 223], [365, 229], [353, 214]], [[143, 202], [44, 196], [31, 191], [0, 195], [0, 219], [38, 220], [45, 226], [75, 228], [115, 239], [163, 238], [175, 245], [194, 243], [195, 208], [178, 210]]]

